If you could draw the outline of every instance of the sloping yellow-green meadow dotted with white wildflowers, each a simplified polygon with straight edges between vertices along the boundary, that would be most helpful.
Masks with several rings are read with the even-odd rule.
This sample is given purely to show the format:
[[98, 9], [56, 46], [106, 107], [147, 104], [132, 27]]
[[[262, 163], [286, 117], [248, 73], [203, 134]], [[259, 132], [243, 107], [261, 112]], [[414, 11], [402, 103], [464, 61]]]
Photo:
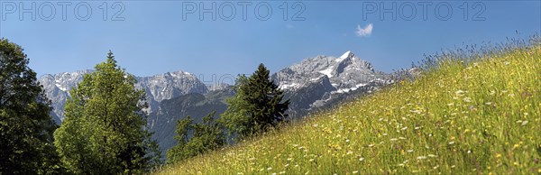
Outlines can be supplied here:
[[159, 174], [541, 173], [541, 47], [416, 81]]

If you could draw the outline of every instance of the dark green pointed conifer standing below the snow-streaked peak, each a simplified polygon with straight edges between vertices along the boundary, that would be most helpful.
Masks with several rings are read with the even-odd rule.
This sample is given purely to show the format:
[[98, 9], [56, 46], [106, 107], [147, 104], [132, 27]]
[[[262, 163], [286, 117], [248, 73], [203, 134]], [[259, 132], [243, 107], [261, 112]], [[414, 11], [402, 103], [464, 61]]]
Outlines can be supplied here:
[[236, 94], [227, 100], [223, 122], [239, 139], [265, 132], [288, 117], [284, 113], [289, 100], [282, 99], [283, 92], [270, 80], [269, 72], [260, 64], [250, 78], [239, 76]]

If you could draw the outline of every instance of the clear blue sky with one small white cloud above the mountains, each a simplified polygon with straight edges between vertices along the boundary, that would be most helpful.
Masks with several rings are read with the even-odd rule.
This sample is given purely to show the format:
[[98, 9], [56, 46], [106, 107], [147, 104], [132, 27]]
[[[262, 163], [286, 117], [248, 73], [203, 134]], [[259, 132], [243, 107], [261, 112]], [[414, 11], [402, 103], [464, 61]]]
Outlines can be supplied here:
[[[0, 37], [22, 45], [39, 75], [92, 69], [109, 50], [138, 76], [182, 69], [219, 77], [261, 62], [275, 72], [345, 51], [390, 72], [454, 46], [539, 34], [540, 2], [1, 0]], [[216, 20], [200, 20], [199, 5]]]

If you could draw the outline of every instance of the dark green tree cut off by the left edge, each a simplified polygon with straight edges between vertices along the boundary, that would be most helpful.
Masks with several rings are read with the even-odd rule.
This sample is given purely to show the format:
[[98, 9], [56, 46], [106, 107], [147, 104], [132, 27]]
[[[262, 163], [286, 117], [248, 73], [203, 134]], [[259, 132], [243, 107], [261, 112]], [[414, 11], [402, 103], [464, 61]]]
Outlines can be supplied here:
[[57, 125], [23, 49], [0, 39], [0, 174], [58, 173]]

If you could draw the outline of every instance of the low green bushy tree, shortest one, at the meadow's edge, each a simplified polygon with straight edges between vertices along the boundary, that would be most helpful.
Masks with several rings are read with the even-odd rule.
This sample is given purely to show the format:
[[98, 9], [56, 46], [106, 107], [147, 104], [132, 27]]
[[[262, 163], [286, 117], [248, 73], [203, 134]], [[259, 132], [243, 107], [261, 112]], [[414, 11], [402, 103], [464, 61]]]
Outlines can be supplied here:
[[[188, 115], [177, 121], [177, 135], [175, 139], [179, 143], [167, 152], [169, 163], [185, 160], [197, 154], [211, 151], [225, 144], [225, 134], [222, 126], [215, 122], [212, 112], [203, 117], [203, 123], [193, 124], [193, 119]], [[188, 137], [188, 134], [193, 136]]]

